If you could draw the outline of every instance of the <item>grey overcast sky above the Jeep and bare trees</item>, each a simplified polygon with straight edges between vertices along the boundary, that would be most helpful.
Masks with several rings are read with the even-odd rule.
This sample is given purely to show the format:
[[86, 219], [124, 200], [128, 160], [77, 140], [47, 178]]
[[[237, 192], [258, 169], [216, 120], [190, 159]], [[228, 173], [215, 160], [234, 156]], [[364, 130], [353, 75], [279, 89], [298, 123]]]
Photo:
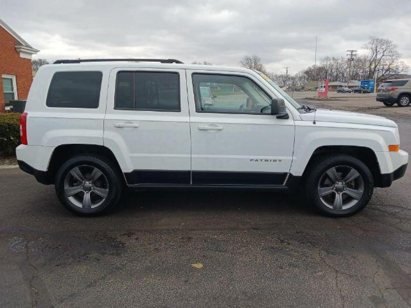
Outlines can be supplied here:
[[[0, 0], [0, 18], [35, 58], [159, 57], [238, 66], [261, 56], [296, 73], [317, 59], [393, 40], [411, 67], [411, 0]], [[1, 46], [0, 46], [1, 48]], [[360, 51], [361, 52], [361, 51]]]

